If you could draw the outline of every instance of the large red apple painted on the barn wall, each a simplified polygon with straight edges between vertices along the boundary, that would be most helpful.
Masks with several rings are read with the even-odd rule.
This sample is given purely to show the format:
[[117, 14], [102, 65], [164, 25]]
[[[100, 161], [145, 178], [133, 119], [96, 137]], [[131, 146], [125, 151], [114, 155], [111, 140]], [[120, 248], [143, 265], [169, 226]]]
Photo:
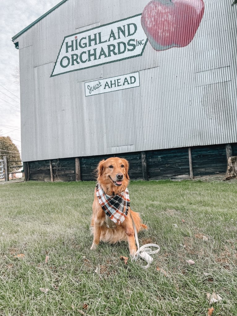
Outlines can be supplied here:
[[187, 46], [204, 14], [203, 0], [152, 0], [144, 8], [141, 24], [156, 51]]

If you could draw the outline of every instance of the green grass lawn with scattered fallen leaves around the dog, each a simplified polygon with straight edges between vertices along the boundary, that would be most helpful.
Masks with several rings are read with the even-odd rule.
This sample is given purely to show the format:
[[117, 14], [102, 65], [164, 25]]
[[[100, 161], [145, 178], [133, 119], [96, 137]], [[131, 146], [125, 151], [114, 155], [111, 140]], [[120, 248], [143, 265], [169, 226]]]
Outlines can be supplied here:
[[207, 315], [213, 291], [212, 315], [237, 315], [237, 182], [131, 181], [140, 245], [161, 247], [148, 270], [125, 242], [89, 250], [94, 187], [0, 185], [1, 316]]

